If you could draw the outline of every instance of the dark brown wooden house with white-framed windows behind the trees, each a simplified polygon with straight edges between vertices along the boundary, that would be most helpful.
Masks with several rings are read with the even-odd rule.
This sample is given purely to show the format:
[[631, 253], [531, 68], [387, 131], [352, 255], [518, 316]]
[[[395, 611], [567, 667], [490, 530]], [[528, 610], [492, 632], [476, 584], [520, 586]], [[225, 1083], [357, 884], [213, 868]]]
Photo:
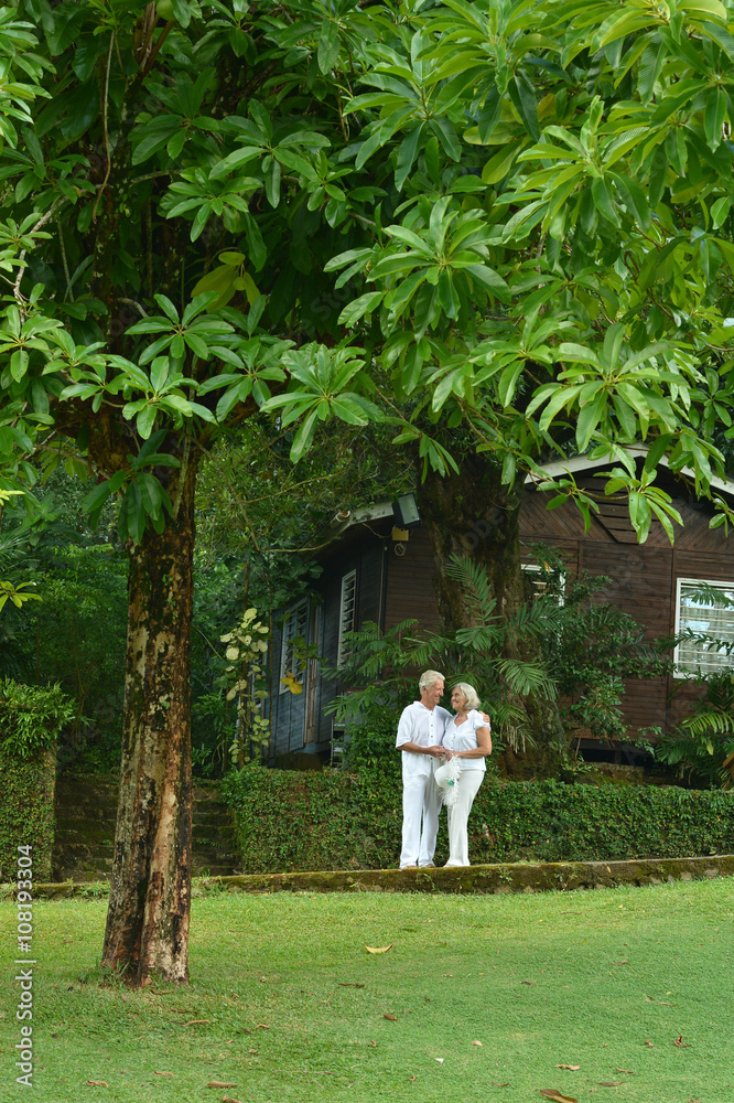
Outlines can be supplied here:
[[[697, 500], [686, 481], [662, 471], [658, 484], [671, 494], [683, 526], [676, 525], [671, 546], [662, 526], [655, 522], [646, 543], [639, 545], [626, 499], [605, 499], [594, 467], [598, 464], [578, 457], [547, 469], [549, 475], [571, 471], [580, 486], [601, 491], [600, 511], [587, 533], [572, 502], [549, 511], [548, 495], [528, 486], [520, 512], [528, 569], [533, 566], [531, 547], [547, 544], [562, 553], [570, 572], [608, 576], [611, 583], [600, 597], [644, 624], [650, 640], [690, 625], [694, 631], [715, 630], [717, 639], [734, 641], [734, 609], [702, 608], [691, 599], [701, 581], [721, 587], [734, 598], [734, 532], [727, 535], [723, 526], [710, 528], [711, 504]], [[608, 470], [608, 462], [604, 470]], [[714, 490], [734, 500], [734, 481], [717, 480]], [[471, 544], [472, 534], [467, 536]], [[415, 618], [422, 629], [438, 627], [428, 533], [420, 525], [408, 534], [396, 531], [391, 503], [338, 515], [325, 534], [324, 545], [319, 556], [323, 574], [315, 596], [301, 598], [285, 609], [273, 638], [272, 758], [310, 752], [328, 759], [341, 737], [324, 711], [338, 692], [338, 683], [322, 678], [316, 660], [300, 661], [294, 641], [303, 638], [315, 643], [319, 655], [338, 667], [344, 633], [366, 621], [375, 621], [384, 630], [408, 618]], [[704, 654], [695, 644], [681, 645], [674, 658], [676, 676], [627, 681], [623, 711], [633, 732], [674, 728], [699, 692], [687, 682], [687, 675], [694, 674], [699, 665], [706, 672], [731, 663], [728, 656]], [[293, 694], [281, 681], [289, 672], [298, 676], [301, 693]], [[580, 747], [591, 759], [616, 757], [622, 761], [626, 751], [622, 746], [602, 747], [591, 738], [581, 738]]]

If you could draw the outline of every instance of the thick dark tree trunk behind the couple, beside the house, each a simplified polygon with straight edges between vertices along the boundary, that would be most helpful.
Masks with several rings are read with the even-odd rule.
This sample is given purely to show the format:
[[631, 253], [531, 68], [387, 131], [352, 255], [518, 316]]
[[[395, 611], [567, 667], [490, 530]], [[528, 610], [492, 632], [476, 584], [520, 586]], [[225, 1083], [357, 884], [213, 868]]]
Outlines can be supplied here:
[[[430, 472], [422, 484], [418, 504], [427, 526], [436, 566], [434, 588], [444, 631], [471, 627], [461, 585], [446, 574], [450, 557], [469, 556], [487, 571], [500, 617], [511, 615], [531, 598], [520, 566], [519, 514], [525, 488], [518, 480], [511, 490], [501, 484], [499, 467], [484, 454], [468, 454], [458, 474], [441, 476]], [[508, 638], [503, 657], [540, 658], [536, 644]], [[481, 687], [478, 687], [481, 694]], [[565, 743], [558, 706], [540, 694], [512, 697], [525, 714], [523, 740], [507, 739], [504, 759], [508, 772], [554, 772], [559, 751]], [[500, 732], [501, 735], [501, 732]], [[511, 733], [510, 733], [511, 736]]]

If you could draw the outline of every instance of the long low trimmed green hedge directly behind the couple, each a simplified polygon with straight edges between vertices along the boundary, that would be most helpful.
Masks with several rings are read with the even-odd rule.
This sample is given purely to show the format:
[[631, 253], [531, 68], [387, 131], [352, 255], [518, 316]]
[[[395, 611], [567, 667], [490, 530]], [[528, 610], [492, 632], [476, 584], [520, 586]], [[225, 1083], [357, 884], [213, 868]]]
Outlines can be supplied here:
[[[246, 767], [225, 778], [223, 795], [235, 813], [245, 872], [397, 865], [400, 784], [382, 774]], [[473, 865], [731, 853], [734, 795], [721, 791], [487, 778], [469, 817]], [[436, 865], [447, 856], [442, 815]]]

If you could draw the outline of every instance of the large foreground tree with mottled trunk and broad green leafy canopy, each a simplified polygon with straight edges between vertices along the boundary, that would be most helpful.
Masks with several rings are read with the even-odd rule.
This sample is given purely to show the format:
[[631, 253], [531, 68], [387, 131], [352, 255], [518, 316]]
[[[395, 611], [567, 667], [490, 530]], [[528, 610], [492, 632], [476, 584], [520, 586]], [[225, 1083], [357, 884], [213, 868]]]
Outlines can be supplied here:
[[217, 435], [279, 410], [299, 460], [322, 421], [388, 419], [425, 472], [486, 456], [505, 494], [544, 456], [595, 448], [643, 537], [652, 514], [669, 524], [659, 456], [709, 485], [727, 386], [727, 11], [2, 12], [7, 483], [71, 441], [98, 480], [90, 512], [118, 495], [130, 549], [106, 965], [187, 975], [193, 503]]

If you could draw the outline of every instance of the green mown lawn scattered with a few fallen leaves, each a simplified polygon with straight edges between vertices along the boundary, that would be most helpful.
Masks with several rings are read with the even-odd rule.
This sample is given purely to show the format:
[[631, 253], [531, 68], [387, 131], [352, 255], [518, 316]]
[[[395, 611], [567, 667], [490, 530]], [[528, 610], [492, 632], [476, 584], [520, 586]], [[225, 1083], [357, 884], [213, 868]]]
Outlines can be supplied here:
[[[24, 1090], [14, 910], [0, 904], [2, 1101]], [[37, 1103], [734, 1099], [734, 881], [214, 895], [194, 901], [188, 988], [147, 993], [100, 985], [105, 913], [104, 900], [34, 906]]]

